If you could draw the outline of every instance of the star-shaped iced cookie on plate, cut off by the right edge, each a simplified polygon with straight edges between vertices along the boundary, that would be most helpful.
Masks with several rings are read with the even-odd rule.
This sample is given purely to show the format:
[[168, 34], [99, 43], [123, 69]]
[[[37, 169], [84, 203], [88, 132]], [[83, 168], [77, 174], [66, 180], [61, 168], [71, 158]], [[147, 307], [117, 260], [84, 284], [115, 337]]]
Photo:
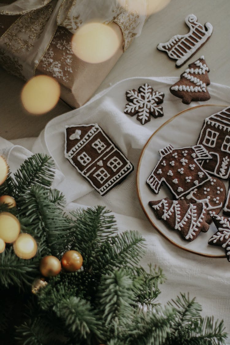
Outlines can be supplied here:
[[212, 235], [208, 243], [214, 246], [221, 246], [225, 249], [228, 261], [230, 261], [230, 218], [214, 215], [213, 222], [218, 231]]

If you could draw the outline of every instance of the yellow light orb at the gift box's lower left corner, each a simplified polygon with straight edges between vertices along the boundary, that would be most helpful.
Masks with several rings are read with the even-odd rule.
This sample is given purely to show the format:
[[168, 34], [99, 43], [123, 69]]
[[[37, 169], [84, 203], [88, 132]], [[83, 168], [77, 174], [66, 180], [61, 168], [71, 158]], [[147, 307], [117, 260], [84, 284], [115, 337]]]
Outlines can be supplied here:
[[24, 108], [34, 115], [50, 111], [56, 106], [59, 97], [59, 83], [54, 78], [43, 75], [31, 78], [21, 92]]

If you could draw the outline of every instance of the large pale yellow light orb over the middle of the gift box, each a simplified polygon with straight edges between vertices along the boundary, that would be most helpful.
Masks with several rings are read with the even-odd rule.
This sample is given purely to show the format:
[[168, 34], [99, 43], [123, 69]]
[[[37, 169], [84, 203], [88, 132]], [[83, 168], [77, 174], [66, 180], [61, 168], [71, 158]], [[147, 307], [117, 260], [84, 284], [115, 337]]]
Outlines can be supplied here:
[[121, 39], [121, 32], [114, 23], [86, 23], [73, 35], [72, 50], [83, 61], [100, 63], [114, 55]]

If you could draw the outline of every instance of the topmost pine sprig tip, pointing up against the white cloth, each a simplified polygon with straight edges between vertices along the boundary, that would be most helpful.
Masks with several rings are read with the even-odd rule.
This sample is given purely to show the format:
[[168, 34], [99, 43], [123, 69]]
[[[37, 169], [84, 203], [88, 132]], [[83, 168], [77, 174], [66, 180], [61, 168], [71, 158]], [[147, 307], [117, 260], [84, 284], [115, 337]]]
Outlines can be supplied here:
[[54, 178], [54, 162], [51, 157], [35, 154], [27, 158], [14, 174], [17, 194], [25, 193], [33, 185], [50, 187]]

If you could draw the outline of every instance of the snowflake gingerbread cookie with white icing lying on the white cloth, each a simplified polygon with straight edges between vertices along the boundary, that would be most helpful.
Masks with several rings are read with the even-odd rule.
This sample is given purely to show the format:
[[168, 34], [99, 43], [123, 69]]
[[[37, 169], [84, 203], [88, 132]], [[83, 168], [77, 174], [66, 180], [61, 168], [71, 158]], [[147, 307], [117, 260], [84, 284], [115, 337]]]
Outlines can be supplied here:
[[126, 91], [126, 104], [124, 113], [130, 116], [137, 115], [137, 120], [142, 125], [151, 120], [150, 115], [154, 118], [163, 116], [163, 108], [159, 106], [163, 102], [164, 93], [154, 91], [153, 88], [145, 83], [138, 88]]

